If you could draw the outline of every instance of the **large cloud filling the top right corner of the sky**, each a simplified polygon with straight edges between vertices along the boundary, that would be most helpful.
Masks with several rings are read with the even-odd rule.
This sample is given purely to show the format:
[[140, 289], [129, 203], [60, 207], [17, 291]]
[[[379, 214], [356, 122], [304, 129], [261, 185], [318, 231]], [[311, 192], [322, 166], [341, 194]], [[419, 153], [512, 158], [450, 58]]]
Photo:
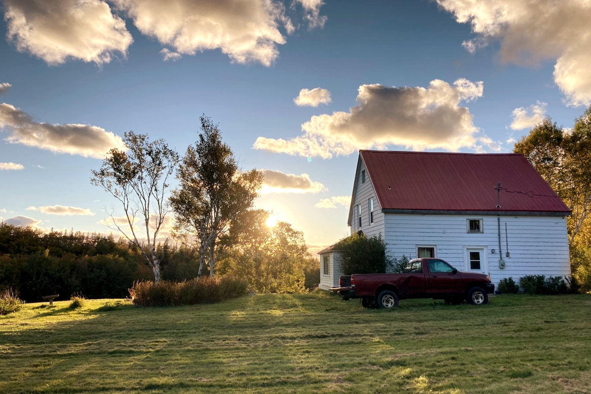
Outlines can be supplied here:
[[501, 41], [501, 59], [521, 66], [556, 60], [554, 82], [569, 105], [591, 103], [591, 2], [588, 0], [437, 0], [477, 37], [463, 44], [476, 51]]

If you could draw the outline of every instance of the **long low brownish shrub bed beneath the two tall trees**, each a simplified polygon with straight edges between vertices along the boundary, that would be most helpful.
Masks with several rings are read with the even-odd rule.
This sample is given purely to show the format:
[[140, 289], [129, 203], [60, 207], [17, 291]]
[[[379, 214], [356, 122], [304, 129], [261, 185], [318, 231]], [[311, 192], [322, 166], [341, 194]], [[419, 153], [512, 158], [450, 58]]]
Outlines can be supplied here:
[[210, 304], [248, 294], [245, 279], [232, 276], [205, 277], [190, 281], [135, 282], [129, 289], [131, 301], [141, 307]]

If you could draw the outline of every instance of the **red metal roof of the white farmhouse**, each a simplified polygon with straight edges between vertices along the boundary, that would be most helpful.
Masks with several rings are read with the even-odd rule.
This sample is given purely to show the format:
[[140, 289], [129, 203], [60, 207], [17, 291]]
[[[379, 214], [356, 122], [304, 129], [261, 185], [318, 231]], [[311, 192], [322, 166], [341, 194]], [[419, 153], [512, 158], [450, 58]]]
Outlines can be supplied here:
[[[382, 209], [570, 213], [521, 154], [359, 154]], [[501, 209], [496, 208], [499, 182]]]

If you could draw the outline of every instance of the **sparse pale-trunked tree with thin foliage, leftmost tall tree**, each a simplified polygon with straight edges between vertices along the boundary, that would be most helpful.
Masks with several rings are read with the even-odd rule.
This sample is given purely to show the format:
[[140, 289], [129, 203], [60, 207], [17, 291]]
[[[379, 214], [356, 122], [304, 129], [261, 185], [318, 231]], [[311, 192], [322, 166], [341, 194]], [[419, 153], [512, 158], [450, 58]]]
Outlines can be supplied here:
[[[102, 187], [115, 197], [125, 213], [124, 224], [109, 212], [112, 224], [139, 250], [154, 273], [154, 282], [160, 279], [160, 259], [156, 239], [168, 214], [166, 191], [168, 179], [178, 163], [178, 154], [163, 139], [148, 141], [145, 134], [126, 132], [123, 141], [127, 151], [113, 148], [103, 160], [100, 170], [92, 171], [91, 183]], [[136, 220], [139, 221], [137, 232]], [[145, 243], [140, 239], [145, 237]]]

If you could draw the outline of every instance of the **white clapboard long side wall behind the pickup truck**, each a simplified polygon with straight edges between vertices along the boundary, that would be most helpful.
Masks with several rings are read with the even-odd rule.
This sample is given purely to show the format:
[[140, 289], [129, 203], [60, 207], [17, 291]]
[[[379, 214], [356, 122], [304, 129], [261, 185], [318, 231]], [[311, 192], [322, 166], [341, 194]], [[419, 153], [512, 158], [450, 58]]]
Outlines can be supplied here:
[[[483, 233], [468, 233], [467, 219], [482, 219]], [[415, 258], [418, 245], [435, 246], [436, 257], [460, 271], [467, 269], [465, 249], [482, 248], [488, 273], [495, 284], [509, 276], [518, 281], [525, 275], [570, 275], [566, 219], [561, 216], [501, 216], [503, 269], [499, 268], [501, 256], [496, 215], [388, 213], [385, 215], [384, 239], [388, 255], [394, 258], [403, 255]]]

